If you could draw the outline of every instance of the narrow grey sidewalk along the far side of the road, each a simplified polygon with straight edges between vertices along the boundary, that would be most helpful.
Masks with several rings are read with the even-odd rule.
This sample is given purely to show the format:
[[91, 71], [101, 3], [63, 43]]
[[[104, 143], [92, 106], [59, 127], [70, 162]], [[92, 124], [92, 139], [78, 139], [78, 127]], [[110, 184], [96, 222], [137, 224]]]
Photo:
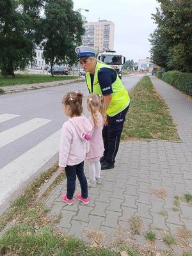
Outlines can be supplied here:
[[[49, 85], [49, 86], [44, 86], [43, 85], [44, 83], [39, 83], [40, 85], [38, 85], [38, 86], [33, 86], [33, 84], [28, 84], [28, 85], [31, 86], [31, 88], [29, 88], [29, 89], [28, 88], [22, 88], [22, 89], [18, 89], [18, 90], [16, 89], [16, 90], [5, 91], [1, 95], [5, 95], [5, 94], [9, 94], [9, 93], [17, 93], [17, 92], [27, 92], [27, 91], [32, 91], [32, 90], [40, 90], [40, 89], [49, 88], [49, 87], [62, 86], [62, 85], [65, 85], [65, 84], [80, 83], [80, 82], [83, 82], [83, 81], [84, 81], [84, 79], [79, 79], [78, 78], [76, 81], [69, 81], [67, 83], [52, 84], [52, 85]], [[47, 83], [47, 82], [45, 82], [45, 83]], [[22, 85], [22, 84], [20, 84], [20, 85]]]

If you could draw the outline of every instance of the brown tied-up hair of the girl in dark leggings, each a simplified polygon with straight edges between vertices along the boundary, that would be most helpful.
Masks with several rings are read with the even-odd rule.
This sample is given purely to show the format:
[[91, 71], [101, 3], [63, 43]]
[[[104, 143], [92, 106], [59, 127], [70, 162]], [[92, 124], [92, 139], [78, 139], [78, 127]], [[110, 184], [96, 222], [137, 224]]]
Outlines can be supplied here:
[[62, 104], [64, 106], [70, 106], [70, 117], [81, 116], [83, 112], [82, 99], [82, 92], [68, 92], [63, 97]]

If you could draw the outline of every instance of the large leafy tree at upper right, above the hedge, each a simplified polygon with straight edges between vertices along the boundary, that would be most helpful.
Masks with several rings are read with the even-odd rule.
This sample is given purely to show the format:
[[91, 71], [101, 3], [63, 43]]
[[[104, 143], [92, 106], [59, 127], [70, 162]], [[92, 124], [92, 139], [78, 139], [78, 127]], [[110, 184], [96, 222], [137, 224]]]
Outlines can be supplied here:
[[152, 60], [166, 69], [192, 72], [192, 1], [158, 2], [153, 15], [157, 29], [150, 36]]

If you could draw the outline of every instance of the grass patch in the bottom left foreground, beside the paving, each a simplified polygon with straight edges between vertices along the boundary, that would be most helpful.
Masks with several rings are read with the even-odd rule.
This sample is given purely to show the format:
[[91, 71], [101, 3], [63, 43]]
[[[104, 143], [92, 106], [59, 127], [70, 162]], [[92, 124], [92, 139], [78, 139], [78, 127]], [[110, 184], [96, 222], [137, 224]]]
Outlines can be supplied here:
[[28, 224], [10, 228], [4, 236], [0, 238], [0, 248], [2, 246], [4, 246], [5, 252], [10, 253], [8, 255], [15, 255], [12, 253], [17, 253], [17, 255], [22, 256], [119, 255], [105, 248], [90, 248], [90, 246], [87, 246], [77, 239], [56, 234], [52, 227], [43, 227], [35, 231]]

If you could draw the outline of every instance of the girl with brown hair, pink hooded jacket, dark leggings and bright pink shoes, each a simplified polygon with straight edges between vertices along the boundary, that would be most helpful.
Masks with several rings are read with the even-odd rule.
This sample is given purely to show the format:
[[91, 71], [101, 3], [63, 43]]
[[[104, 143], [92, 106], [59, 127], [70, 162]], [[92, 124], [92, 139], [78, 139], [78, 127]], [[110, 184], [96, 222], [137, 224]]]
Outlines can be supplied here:
[[62, 104], [65, 115], [69, 116], [63, 124], [60, 141], [59, 166], [61, 172], [66, 173], [67, 195], [61, 195], [61, 200], [68, 205], [74, 204], [73, 196], [76, 189], [76, 176], [81, 185], [81, 193], [76, 198], [89, 204], [88, 185], [84, 175], [84, 159], [88, 153], [90, 132], [92, 125], [88, 119], [81, 115], [83, 93], [69, 92], [63, 97]]

